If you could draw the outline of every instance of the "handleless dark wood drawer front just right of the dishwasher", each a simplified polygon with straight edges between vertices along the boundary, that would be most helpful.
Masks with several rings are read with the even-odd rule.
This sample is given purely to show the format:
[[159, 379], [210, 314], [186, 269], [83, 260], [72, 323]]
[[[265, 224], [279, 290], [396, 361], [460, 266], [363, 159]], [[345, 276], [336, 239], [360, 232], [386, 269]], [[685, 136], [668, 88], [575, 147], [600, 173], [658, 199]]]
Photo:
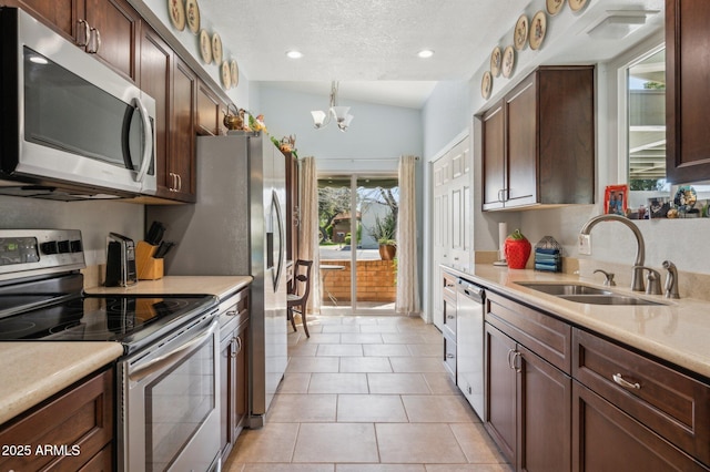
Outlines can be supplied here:
[[498, 294], [487, 291], [486, 297], [486, 321], [565, 373], [570, 373], [570, 325]]

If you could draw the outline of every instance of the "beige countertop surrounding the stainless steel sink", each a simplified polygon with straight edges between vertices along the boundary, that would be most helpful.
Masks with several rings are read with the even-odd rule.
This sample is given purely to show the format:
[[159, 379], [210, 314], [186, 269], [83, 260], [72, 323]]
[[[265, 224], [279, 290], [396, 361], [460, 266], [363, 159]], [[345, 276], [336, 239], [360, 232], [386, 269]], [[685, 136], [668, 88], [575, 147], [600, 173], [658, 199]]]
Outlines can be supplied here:
[[[602, 287], [595, 280], [575, 275], [516, 270], [490, 264], [477, 264], [471, 274], [443, 268], [710, 380], [710, 304], [706, 300], [668, 299], [661, 295], [631, 291], [629, 287]], [[526, 281], [576, 281], [662, 305], [578, 304], [517, 284]]]

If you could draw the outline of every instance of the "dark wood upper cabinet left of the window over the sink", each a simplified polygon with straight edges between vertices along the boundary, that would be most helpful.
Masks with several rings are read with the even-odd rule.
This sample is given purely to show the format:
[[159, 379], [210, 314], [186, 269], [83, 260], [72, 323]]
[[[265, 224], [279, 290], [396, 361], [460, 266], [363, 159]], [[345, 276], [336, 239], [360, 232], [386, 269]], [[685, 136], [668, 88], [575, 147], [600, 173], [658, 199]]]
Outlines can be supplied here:
[[484, 211], [594, 203], [592, 65], [539, 68], [480, 120]]

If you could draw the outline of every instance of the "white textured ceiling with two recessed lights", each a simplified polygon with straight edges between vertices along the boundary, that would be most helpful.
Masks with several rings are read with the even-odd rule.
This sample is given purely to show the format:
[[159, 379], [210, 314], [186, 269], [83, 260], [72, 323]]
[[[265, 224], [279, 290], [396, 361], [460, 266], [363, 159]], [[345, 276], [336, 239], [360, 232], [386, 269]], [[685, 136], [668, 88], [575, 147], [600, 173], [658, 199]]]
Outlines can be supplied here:
[[[575, 23], [587, 28], [606, 9], [662, 6], [663, 0], [588, 0]], [[329, 81], [338, 80], [343, 98], [374, 93], [373, 101], [393, 102], [402, 95], [406, 106], [420, 106], [436, 81], [470, 79], [517, 18], [540, 9], [545, 0], [200, 0], [203, 28], [220, 33], [248, 80], [325, 94]], [[597, 59], [586, 34], [577, 41], [587, 47], [576, 59]], [[623, 45], [604, 43], [597, 48], [605, 48], [601, 55]], [[425, 48], [435, 55], [419, 59]], [[286, 58], [292, 49], [304, 57]], [[359, 92], [348, 92], [351, 83]]]

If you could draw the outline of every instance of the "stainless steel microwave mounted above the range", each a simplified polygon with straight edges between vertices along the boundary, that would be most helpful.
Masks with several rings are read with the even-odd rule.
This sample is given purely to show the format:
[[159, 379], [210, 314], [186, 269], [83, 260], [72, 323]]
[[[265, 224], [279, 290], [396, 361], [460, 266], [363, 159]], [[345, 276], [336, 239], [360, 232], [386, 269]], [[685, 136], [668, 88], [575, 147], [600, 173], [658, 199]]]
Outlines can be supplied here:
[[154, 195], [155, 101], [20, 9], [0, 40], [0, 193]]

